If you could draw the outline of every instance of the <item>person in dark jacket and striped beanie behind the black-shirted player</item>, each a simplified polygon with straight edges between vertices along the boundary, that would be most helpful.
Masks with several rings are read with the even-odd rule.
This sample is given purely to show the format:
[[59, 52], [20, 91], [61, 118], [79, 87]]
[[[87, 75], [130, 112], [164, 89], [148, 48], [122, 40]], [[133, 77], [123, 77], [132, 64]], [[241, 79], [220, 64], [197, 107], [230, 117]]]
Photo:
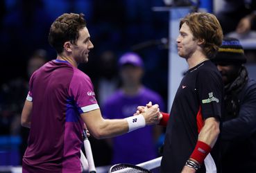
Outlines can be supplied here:
[[238, 39], [224, 38], [212, 60], [225, 84], [222, 127], [224, 173], [256, 172], [256, 82], [248, 78], [246, 57]]

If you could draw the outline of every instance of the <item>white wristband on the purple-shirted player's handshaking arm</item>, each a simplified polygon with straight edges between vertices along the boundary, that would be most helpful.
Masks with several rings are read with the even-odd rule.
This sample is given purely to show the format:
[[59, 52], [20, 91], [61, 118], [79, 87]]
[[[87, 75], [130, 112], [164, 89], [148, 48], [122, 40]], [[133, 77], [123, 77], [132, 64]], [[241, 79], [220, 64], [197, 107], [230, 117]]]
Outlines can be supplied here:
[[139, 114], [138, 116], [130, 116], [126, 118], [128, 125], [129, 125], [129, 131], [134, 131], [135, 129], [139, 129], [142, 127], [145, 127], [146, 121], [144, 116], [142, 114]]

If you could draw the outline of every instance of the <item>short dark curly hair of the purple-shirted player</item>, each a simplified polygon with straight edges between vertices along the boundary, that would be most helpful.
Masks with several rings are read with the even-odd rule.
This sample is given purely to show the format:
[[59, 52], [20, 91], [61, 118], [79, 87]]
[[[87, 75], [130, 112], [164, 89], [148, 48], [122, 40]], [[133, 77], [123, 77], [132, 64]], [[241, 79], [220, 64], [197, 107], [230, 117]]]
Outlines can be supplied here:
[[51, 24], [49, 44], [56, 49], [57, 53], [62, 53], [64, 43], [70, 41], [72, 44], [76, 44], [79, 30], [85, 26], [83, 13], [64, 13]]

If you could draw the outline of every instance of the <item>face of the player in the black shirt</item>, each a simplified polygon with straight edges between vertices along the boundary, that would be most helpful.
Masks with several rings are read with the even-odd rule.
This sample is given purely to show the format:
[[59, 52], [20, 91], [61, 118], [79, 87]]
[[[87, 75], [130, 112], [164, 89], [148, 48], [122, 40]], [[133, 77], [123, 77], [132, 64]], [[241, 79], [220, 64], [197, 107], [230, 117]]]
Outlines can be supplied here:
[[178, 35], [176, 42], [178, 44], [178, 55], [185, 58], [193, 55], [198, 44], [186, 23], [182, 24], [180, 34]]

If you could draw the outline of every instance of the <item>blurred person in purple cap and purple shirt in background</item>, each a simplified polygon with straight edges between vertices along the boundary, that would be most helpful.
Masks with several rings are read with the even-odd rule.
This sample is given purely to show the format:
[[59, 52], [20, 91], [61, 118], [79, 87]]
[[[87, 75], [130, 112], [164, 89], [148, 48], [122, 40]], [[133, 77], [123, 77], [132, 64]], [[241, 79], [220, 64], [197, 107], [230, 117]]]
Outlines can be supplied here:
[[[125, 53], [119, 59], [121, 89], [114, 92], [103, 105], [105, 118], [126, 118], [137, 110], [137, 106], [149, 101], [159, 104], [164, 110], [160, 95], [142, 84], [144, 63], [136, 53]], [[135, 132], [112, 138], [112, 164], [137, 164], [157, 157], [157, 139], [162, 129], [148, 126]]]

